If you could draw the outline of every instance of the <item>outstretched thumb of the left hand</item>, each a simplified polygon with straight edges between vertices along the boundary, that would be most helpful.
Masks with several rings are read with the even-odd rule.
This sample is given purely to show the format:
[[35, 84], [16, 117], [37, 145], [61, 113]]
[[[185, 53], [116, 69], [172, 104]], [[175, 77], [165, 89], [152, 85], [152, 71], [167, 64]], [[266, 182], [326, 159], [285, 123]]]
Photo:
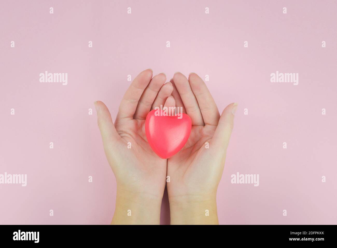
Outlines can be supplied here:
[[103, 145], [116, 142], [116, 140], [120, 139], [120, 136], [112, 122], [109, 109], [101, 101], [94, 102], [94, 105], [97, 111], [97, 124], [102, 136]]

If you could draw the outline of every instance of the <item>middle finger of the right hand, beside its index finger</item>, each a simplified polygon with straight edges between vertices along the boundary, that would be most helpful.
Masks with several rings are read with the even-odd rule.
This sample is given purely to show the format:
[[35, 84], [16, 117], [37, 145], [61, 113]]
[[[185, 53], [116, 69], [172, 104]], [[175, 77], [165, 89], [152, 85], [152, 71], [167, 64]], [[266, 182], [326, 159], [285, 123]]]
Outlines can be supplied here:
[[174, 74], [173, 80], [184, 103], [186, 113], [192, 120], [192, 126], [204, 126], [203, 116], [187, 78], [177, 72]]

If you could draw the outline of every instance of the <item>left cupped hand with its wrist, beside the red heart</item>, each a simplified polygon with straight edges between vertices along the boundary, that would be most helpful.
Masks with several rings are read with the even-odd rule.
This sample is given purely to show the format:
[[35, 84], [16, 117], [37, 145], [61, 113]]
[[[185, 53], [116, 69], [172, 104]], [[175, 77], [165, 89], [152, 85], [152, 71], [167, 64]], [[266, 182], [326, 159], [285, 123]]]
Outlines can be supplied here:
[[175, 106], [173, 85], [165, 80], [165, 74], [152, 78], [152, 70], [141, 72], [125, 92], [115, 123], [104, 103], [95, 102], [105, 155], [117, 182], [112, 223], [159, 224], [167, 160], [149, 146], [145, 119], [154, 107]]

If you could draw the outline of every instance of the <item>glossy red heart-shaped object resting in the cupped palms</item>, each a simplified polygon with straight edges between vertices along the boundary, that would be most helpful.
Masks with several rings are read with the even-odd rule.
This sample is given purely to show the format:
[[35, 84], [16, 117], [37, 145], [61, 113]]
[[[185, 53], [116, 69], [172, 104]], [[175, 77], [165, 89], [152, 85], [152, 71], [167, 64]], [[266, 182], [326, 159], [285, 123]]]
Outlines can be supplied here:
[[146, 116], [145, 132], [152, 150], [162, 159], [168, 159], [183, 148], [191, 133], [191, 118], [184, 113], [177, 115], [155, 115], [152, 110]]

